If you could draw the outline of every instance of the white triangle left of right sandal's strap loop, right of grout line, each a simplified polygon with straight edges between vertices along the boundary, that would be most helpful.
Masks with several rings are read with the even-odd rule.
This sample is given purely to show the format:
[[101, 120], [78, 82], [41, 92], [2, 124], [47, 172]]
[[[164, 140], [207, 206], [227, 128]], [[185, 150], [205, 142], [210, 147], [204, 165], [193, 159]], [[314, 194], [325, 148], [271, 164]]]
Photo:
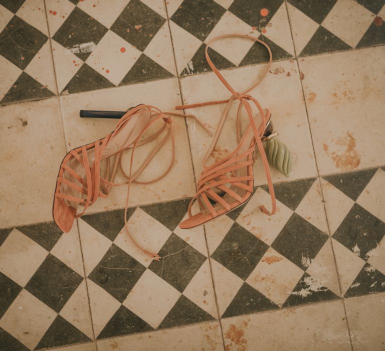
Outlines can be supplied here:
[[202, 45], [202, 42], [192, 34], [185, 31], [183, 28], [179, 27], [177, 24], [173, 23], [171, 20], [169, 24], [172, 45], [175, 53], [176, 69], [179, 74], [194, 57], [195, 53]]

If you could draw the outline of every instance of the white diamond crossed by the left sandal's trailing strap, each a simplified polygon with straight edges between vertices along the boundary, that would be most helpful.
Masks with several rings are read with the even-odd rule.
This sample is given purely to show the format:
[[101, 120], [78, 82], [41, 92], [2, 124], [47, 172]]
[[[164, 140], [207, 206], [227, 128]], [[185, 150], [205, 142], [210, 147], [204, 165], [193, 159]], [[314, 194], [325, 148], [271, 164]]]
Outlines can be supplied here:
[[[171, 231], [156, 219], [137, 208], [127, 221], [128, 230], [134, 240], [145, 250], [157, 253], [171, 235]], [[124, 227], [114, 240], [114, 244], [136, 259], [145, 267], [153, 261], [151, 257], [138, 249]]]

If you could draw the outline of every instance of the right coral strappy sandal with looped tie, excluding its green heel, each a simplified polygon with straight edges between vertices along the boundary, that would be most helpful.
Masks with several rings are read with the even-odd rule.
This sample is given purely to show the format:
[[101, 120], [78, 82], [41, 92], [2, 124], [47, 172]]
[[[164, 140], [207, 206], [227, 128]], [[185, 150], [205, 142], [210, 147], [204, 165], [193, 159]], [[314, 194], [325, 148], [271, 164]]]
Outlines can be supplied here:
[[[225, 80], [222, 74], [215, 67], [211, 61], [208, 48], [211, 43], [224, 38], [239, 37], [252, 40], [261, 43], [269, 52], [269, 63], [262, 78], [255, 83], [248, 90], [243, 93], [235, 91], [230, 84]], [[221, 82], [231, 92], [232, 96], [229, 100], [212, 101], [205, 103], [198, 103], [193, 105], [176, 106], [176, 109], [188, 109], [200, 106], [206, 106], [211, 104], [227, 103], [226, 108], [222, 114], [219, 122], [216, 134], [213, 138], [213, 142], [203, 160], [204, 170], [197, 184], [197, 194], [191, 200], [188, 206], [188, 218], [180, 223], [179, 227], [182, 229], [188, 229], [197, 227], [204, 223], [207, 223], [221, 215], [224, 215], [237, 207], [243, 205], [248, 201], [254, 188], [254, 174], [253, 174], [253, 153], [258, 148], [259, 153], [265, 167], [267, 183], [269, 186], [269, 192], [272, 202], [272, 210], [269, 212], [264, 206], [260, 206], [262, 212], [267, 215], [273, 215], [276, 211], [275, 195], [273, 184], [270, 176], [269, 164], [267, 161], [266, 153], [262, 145], [263, 138], [270, 137], [264, 135], [265, 131], [270, 124], [270, 111], [269, 109], [263, 109], [260, 103], [251, 95], [248, 94], [254, 89], [265, 77], [269, 71], [272, 61], [272, 54], [269, 46], [257, 38], [252, 38], [246, 35], [224, 35], [213, 39], [206, 47], [206, 59], [217, 75]], [[219, 135], [225, 123], [225, 119], [229, 113], [230, 106], [234, 100], [239, 100], [239, 107], [237, 112], [237, 137], [238, 147], [224, 157], [222, 160], [215, 162], [212, 165], [207, 165], [207, 161], [218, 141]], [[254, 110], [252, 108], [254, 107]], [[249, 125], [241, 134], [241, 112], [245, 108], [249, 117]], [[269, 128], [270, 129], [270, 128]], [[273, 135], [273, 134], [272, 134]], [[262, 140], [261, 140], [262, 139]], [[196, 214], [191, 213], [191, 206], [198, 201], [200, 212]]]

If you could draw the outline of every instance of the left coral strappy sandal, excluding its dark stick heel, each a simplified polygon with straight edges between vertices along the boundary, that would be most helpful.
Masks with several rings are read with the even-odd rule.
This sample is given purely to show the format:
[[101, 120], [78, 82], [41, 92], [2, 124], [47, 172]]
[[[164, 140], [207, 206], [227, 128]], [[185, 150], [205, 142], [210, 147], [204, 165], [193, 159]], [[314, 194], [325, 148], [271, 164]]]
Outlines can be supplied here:
[[[107, 198], [110, 187], [128, 185], [127, 200], [124, 213], [124, 223], [128, 235], [134, 244], [145, 254], [155, 260], [159, 260], [157, 254], [143, 249], [130, 235], [127, 227], [127, 208], [131, 183], [151, 184], [163, 178], [170, 170], [174, 161], [175, 138], [173, 123], [170, 115], [193, 117], [173, 112], [161, 112], [158, 108], [150, 105], [138, 105], [128, 110], [120, 118], [115, 130], [103, 139], [96, 140], [88, 145], [75, 148], [67, 153], [60, 166], [59, 175], [56, 183], [53, 217], [59, 229], [68, 233], [74, 223], [75, 218], [81, 217], [98, 197]], [[210, 134], [211, 132], [197, 119], [196, 121]], [[160, 127], [151, 128], [151, 135], [143, 134], [156, 122]], [[144, 159], [136, 171], [132, 170], [135, 150], [137, 147], [154, 140], [157, 136], [164, 134], [158, 145]], [[142, 171], [146, 168], [151, 159], [156, 155], [164, 143], [171, 138], [171, 160], [167, 169], [156, 179], [149, 182], [137, 180]], [[129, 164], [129, 174], [126, 174], [122, 167], [123, 152], [131, 149]], [[101, 165], [105, 171], [101, 174]], [[127, 181], [122, 184], [114, 183], [118, 169], [121, 169]]]

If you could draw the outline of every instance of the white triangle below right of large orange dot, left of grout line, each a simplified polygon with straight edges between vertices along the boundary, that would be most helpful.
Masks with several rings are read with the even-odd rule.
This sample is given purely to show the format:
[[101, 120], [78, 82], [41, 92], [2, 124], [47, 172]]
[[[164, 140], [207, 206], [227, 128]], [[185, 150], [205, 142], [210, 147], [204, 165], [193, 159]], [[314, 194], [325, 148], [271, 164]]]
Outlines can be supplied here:
[[282, 3], [270, 22], [265, 27], [264, 36], [272, 40], [290, 55], [294, 56], [293, 40], [291, 37], [289, 19], [287, 17], [286, 3]]

